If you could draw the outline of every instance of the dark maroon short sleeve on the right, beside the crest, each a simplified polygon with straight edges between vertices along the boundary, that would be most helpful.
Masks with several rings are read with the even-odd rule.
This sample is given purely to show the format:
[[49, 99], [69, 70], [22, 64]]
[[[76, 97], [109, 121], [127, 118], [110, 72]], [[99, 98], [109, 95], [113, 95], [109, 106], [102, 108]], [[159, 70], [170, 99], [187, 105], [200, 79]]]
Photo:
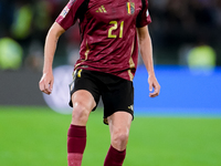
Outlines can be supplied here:
[[151, 22], [151, 18], [148, 11], [148, 0], [141, 0], [141, 3], [143, 3], [143, 8], [139, 14], [137, 15], [137, 20], [136, 20], [137, 28], [145, 27]]

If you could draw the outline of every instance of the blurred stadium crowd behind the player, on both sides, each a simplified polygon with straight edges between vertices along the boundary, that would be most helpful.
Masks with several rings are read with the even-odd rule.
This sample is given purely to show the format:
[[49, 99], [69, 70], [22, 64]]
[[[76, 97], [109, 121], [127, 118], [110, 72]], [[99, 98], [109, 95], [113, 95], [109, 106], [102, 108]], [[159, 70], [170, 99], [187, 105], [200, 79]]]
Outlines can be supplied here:
[[[41, 70], [45, 35], [66, 3], [67, 0], [0, 0], [0, 69], [9, 58], [6, 52], [11, 58], [15, 52], [22, 59], [17, 63]], [[221, 0], [149, 0], [149, 12], [156, 64], [185, 64], [187, 52], [199, 45], [213, 49], [215, 65], [221, 64]], [[80, 41], [78, 27], [74, 25], [60, 40], [55, 64], [73, 64]], [[9, 66], [17, 66], [15, 62]]]

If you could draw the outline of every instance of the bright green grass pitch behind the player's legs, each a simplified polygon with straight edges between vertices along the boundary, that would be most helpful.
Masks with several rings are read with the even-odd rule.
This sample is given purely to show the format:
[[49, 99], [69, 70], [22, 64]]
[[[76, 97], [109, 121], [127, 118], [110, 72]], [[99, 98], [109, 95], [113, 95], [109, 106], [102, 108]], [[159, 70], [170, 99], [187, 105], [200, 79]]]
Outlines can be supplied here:
[[[91, 114], [83, 166], [102, 166], [109, 147], [101, 111]], [[0, 165], [66, 166], [71, 115], [0, 106]], [[221, 118], [136, 116], [124, 166], [220, 166]]]

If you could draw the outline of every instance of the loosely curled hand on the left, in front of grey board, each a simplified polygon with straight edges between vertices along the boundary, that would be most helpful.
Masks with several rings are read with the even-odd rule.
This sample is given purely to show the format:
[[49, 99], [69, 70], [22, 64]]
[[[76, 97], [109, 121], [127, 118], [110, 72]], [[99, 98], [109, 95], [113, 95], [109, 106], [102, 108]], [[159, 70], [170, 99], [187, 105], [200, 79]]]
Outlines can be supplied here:
[[54, 76], [52, 73], [44, 73], [39, 82], [39, 89], [45, 93], [51, 94], [54, 84]]

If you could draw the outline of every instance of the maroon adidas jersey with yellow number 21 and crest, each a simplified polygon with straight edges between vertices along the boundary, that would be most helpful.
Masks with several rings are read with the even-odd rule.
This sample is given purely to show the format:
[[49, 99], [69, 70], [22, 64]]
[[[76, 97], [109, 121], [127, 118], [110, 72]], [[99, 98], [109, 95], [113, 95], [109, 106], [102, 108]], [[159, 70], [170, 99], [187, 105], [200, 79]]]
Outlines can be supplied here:
[[75, 69], [133, 81], [138, 60], [136, 28], [151, 22], [148, 0], [70, 0], [56, 22], [67, 30], [76, 21], [82, 42]]

